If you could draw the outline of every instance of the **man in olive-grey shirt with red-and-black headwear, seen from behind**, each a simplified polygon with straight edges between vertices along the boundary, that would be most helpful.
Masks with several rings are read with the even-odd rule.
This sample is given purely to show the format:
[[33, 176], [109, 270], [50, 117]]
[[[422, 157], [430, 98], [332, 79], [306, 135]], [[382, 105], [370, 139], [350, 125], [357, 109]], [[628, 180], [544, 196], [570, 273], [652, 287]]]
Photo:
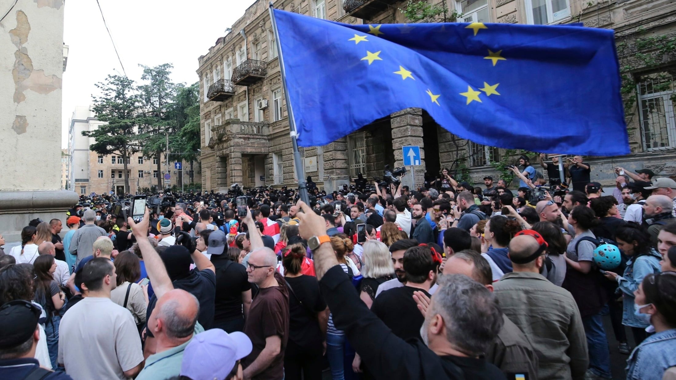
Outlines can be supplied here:
[[538, 379], [583, 379], [589, 359], [577, 304], [569, 291], [540, 275], [546, 244], [539, 233], [525, 233], [533, 235], [518, 235], [510, 241], [514, 271], [495, 283], [493, 292], [504, 314], [533, 343]]

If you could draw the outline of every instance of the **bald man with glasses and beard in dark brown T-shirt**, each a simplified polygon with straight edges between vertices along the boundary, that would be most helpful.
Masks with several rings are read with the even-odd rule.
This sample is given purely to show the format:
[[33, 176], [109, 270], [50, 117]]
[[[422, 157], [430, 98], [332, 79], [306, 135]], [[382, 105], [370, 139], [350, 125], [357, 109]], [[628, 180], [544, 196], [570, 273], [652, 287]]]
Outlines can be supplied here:
[[[247, 225], [252, 220], [249, 214]], [[244, 378], [281, 378], [284, 373], [284, 350], [289, 338], [289, 293], [284, 278], [275, 270], [277, 256], [267, 247], [260, 247], [258, 230], [249, 229], [254, 248], [247, 263], [249, 283], [260, 290], [251, 302], [244, 333], [251, 338], [254, 348], [243, 359]]]

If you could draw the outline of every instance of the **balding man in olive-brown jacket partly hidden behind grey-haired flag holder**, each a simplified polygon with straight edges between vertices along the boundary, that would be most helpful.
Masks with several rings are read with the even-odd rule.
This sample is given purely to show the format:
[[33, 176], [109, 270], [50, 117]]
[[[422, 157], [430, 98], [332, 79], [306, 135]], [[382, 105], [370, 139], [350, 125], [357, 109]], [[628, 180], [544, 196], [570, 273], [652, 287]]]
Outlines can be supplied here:
[[[489, 291], [493, 291], [493, 273], [488, 261], [472, 250], [457, 252], [443, 266], [444, 275], [465, 275]], [[420, 298], [422, 292], [416, 291]], [[498, 339], [486, 353], [486, 360], [497, 366], [508, 379], [515, 373], [528, 373], [528, 379], [537, 377], [537, 354], [528, 337], [502, 314], [504, 324], [498, 333]]]

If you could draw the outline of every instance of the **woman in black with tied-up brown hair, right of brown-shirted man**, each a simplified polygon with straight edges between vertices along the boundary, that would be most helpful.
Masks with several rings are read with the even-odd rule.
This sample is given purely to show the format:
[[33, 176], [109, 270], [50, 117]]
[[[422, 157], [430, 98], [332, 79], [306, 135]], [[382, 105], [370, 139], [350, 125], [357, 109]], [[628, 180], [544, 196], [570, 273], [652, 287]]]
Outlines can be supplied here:
[[301, 243], [283, 249], [284, 278], [289, 287], [289, 341], [284, 352], [286, 379], [322, 379], [329, 308], [314, 276], [301, 272], [306, 249]]

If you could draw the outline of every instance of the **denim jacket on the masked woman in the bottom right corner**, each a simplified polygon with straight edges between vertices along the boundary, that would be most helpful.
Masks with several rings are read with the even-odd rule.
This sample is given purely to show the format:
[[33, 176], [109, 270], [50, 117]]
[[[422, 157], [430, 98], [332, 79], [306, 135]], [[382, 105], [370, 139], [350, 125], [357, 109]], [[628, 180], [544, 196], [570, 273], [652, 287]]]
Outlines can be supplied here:
[[627, 359], [627, 380], [662, 380], [676, 366], [676, 329], [647, 337]]

